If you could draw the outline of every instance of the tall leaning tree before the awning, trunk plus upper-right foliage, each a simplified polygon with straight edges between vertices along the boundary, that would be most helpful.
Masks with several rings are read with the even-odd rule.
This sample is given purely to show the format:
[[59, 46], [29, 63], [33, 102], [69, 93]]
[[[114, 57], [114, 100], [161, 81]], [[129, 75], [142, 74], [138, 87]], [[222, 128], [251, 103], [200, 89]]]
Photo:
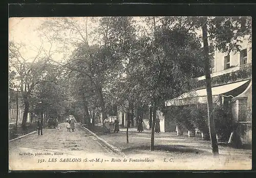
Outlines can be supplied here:
[[[248, 36], [251, 41], [251, 19], [249, 17], [185, 17], [181, 22], [190, 30], [202, 30], [204, 71], [206, 79], [208, 122], [211, 139], [212, 154], [218, 155], [218, 143], [215, 131], [215, 114], [212, 104], [211, 77], [209, 70], [209, 44], [212, 44], [221, 52], [239, 52], [241, 39]], [[209, 36], [208, 36], [209, 34]]]

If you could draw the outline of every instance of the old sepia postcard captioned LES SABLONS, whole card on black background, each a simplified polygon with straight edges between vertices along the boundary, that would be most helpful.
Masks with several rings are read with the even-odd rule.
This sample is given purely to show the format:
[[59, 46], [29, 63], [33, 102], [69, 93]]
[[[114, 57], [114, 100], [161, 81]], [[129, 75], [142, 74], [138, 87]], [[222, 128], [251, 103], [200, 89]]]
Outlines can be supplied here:
[[9, 170], [250, 170], [238, 16], [9, 18]]

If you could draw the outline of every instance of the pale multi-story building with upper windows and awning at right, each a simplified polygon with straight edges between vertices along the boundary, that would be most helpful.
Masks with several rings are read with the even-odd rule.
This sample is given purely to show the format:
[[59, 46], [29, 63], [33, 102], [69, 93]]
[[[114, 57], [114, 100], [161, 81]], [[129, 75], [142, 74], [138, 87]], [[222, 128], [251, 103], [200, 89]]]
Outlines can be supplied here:
[[[229, 104], [231, 106], [232, 119], [240, 125], [238, 133], [244, 143], [251, 143], [251, 64], [251, 43], [244, 39], [240, 52], [225, 54], [216, 50], [214, 68], [211, 73], [212, 99], [214, 103], [220, 102], [222, 105]], [[197, 82], [197, 87], [193, 92], [187, 92], [168, 100], [165, 102], [165, 106], [207, 104], [205, 76], [194, 79], [194, 82]], [[166, 117], [164, 119], [165, 122], [168, 120]], [[167, 126], [167, 124], [165, 125]], [[169, 131], [170, 128], [165, 127], [165, 130]]]

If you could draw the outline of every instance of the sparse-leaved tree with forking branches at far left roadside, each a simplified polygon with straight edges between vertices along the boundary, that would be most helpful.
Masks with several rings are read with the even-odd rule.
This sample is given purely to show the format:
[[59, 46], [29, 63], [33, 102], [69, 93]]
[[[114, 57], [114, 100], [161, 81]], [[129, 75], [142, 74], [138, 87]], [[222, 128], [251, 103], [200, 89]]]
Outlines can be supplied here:
[[[50, 43], [50, 48], [47, 50], [43, 47], [42, 43], [41, 46], [37, 48], [38, 50], [35, 51], [35, 56], [31, 59], [22, 54], [22, 51], [26, 49], [24, 44], [14, 43], [13, 41], [9, 42], [10, 68], [17, 72], [16, 77], [20, 81], [20, 91], [25, 106], [22, 121], [23, 128], [26, 128], [31, 94], [35, 86], [45, 82], [54, 83], [54, 81], [44, 79], [45, 69], [53, 55], [53, 53], [51, 53], [52, 46], [53, 44]], [[44, 54], [41, 55], [41, 52], [44, 52]]]

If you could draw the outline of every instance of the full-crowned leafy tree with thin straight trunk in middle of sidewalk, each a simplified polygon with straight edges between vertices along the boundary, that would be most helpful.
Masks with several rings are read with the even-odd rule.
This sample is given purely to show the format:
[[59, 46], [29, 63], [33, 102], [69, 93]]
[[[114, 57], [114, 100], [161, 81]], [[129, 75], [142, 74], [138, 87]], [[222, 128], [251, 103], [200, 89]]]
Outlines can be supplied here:
[[118, 91], [120, 96], [129, 93], [129, 98], [141, 108], [153, 107], [151, 150], [154, 150], [156, 110], [166, 98], [190, 89], [188, 81], [201, 70], [203, 58], [195, 34], [182, 26], [172, 27], [162, 18], [146, 20], [150, 30], [140, 34], [134, 43], [133, 57], [125, 66]]

